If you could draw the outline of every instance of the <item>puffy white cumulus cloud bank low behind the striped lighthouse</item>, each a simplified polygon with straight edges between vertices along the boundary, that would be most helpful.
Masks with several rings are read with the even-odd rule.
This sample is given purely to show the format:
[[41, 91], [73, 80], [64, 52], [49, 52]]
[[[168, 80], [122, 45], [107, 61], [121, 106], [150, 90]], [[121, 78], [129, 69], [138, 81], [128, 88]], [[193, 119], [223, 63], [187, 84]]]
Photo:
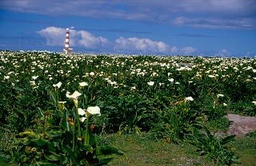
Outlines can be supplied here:
[[[38, 31], [38, 34], [43, 38], [46, 38], [46, 45], [62, 46], [65, 43], [65, 28], [50, 26]], [[192, 46], [178, 49], [176, 46], [170, 46], [163, 41], [153, 41], [150, 40], [150, 38], [120, 37], [115, 41], [109, 41], [104, 37], [96, 37], [86, 30], [70, 30], [70, 47], [95, 50], [97, 53], [157, 53], [188, 55], [196, 52], [196, 49]]]

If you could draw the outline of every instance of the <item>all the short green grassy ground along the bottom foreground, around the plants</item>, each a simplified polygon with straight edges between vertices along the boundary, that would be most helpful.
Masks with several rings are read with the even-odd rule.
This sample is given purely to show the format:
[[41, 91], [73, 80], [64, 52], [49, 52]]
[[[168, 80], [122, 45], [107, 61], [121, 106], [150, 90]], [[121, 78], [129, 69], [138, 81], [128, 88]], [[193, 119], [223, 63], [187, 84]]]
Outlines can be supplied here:
[[[105, 135], [98, 138], [100, 144], [112, 145], [124, 152], [123, 156], [115, 156], [107, 165], [126, 166], [166, 166], [166, 165], [211, 165], [212, 160], [206, 156], [198, 156], [195, 148], [186, 143], [167, 144], [162, 140], [153, 140], [149, 134]], [[1, 142], [3, 144], [3, 142]], [[235, 140], [235, 153], [240, 157], [238, 166], [254, 166], [256, 163], [256, 132]], [[10, 165], [0, 155], [0, 166]]]

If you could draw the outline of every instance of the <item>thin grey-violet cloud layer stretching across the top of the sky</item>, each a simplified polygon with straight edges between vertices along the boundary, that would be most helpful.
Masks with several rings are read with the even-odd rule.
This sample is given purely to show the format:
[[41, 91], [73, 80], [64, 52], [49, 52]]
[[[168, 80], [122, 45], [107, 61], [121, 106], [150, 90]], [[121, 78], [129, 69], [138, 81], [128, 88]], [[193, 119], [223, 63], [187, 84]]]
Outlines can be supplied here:
[[77, 15], [199, 28], [256, 29], [255, 0], [8, 0], [1, 3], [0, 9], [4, 10], [61, 17]]

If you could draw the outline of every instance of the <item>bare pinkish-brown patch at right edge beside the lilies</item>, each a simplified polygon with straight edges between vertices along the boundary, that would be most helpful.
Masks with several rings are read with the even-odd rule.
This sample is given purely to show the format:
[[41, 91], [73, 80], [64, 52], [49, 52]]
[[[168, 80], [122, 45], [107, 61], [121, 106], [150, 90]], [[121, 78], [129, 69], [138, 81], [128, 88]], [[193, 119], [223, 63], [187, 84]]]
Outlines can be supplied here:
[[237, 135], [240, 137], [256, 130], [256, 117], [243, 117], [235, 114], [228, 114], [227, 118], [231, 121], [227, 131], [228, 135]]

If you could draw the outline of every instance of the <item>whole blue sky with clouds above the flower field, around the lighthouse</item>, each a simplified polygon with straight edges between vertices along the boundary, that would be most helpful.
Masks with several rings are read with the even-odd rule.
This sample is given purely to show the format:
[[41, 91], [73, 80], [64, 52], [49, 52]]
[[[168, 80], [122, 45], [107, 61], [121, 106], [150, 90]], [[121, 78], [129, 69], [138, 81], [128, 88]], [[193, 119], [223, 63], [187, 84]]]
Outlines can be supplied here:
[[256, 0], [0, 0], [0, 49], [256, 56]]

